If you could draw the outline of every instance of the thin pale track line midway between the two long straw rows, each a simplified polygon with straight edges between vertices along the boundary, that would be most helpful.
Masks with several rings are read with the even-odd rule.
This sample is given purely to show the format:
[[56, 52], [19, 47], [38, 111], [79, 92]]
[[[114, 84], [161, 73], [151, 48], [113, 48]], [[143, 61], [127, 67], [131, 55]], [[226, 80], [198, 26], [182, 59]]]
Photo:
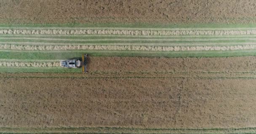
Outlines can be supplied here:
[[54, 38], [22, 38], [22, 37], [0, 37], [0, 39], [28, 39], [28, 40], [45, 40], [45, 41], [219, 41], [219, 40], [248, 40], [255, 41], [256, 38], [215, 38], [215, 39], [196, 39], [196, 38], [184, 38], [184, 39], [54, 39]]

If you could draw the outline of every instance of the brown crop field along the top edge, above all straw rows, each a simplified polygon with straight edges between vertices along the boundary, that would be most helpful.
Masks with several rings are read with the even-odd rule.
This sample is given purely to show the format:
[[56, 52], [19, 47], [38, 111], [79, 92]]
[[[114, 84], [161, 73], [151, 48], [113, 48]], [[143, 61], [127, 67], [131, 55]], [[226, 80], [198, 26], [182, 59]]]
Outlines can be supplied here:
[[254, 0], [5, 0], [0, 23], [256, 23]]

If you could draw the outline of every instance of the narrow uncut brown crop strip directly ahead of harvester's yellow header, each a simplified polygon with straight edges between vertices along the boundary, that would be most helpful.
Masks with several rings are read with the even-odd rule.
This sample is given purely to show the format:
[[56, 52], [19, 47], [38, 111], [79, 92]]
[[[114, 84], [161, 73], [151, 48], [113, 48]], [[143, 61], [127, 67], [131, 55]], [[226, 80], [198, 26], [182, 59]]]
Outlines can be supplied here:
[[255, 71], [256, 57], [165, 58], [165, 57], [88, 57], [88, 71]]

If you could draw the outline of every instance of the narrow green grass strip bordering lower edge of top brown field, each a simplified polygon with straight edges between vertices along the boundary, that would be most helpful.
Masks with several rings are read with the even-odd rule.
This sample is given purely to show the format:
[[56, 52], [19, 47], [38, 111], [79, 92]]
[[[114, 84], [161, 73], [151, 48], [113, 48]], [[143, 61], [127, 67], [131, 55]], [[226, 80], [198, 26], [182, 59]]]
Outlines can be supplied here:
[[123, 27], [123, 28], [256, 28], [256, 24], [221, 24], [221, 23], [194, 23], [194, 24], [149, 24], [149, 23], [66, 23], [66, 24], [8, 24], [0, 27]]

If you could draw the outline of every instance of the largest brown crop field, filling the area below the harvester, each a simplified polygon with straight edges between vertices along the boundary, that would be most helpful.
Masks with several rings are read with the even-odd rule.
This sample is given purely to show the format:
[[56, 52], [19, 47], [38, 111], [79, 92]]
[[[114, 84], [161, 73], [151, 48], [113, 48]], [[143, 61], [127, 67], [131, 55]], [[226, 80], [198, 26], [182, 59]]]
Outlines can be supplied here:
[[254, 127], [255, 79], [0, 78], [1, 127]]

